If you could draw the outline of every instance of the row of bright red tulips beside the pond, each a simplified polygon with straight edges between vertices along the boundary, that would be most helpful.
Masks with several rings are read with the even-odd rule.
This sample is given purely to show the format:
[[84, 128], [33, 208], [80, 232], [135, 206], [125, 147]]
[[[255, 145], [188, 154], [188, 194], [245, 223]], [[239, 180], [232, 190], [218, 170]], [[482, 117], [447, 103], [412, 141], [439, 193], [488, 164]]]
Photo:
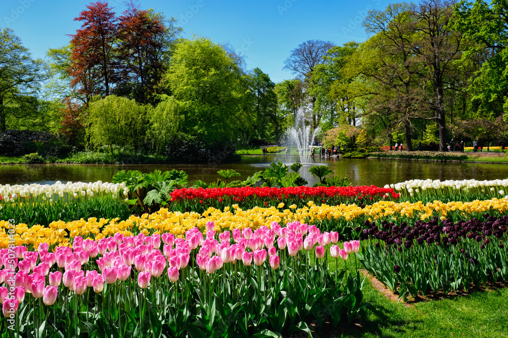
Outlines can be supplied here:
[[303, 206], [308, 201], [314, 203], [371, 204], [379, 200], [393, 200], [399, 197], [392, 188], [371, 186], [293, 186], [293, 187], [228, 187], [177, 189], [171, 194], [169, 208], [173, 211], [203, 212], [209, 207], [224, 209], [238, 204], [240, 208], [277, 205], [280, 202]]

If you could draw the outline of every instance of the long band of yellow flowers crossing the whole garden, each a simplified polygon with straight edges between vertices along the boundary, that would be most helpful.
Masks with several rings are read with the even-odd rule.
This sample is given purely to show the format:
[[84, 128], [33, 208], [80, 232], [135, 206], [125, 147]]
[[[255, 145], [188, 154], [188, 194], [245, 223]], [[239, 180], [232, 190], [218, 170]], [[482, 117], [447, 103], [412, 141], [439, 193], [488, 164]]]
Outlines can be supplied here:
[[[280, 206], [280, 205], [279, 205]], [[360, 208], [356, 204], [341, 204], [330, 206], [326, 204], [315, 205], [308, 203], [300, 209], [291, 205], [290, 209], [270, 207], [255, 207], [249, 210], [242, 210], [238, 205], [234, 205], [230, 210], [227, 207], [224, 211], [215, 208], [209, 208], [203, 214], [196, 212], [169, 212], [168, 209], [161, 209], [153, 214], [144, 214], [141, 217], [131, 216], [128, 220], [119, 221], [115, 219], [97, 220], [89, 218], [72, 222], [57, 221], [52, 222], [49, 227], [33, 226], [28, 228], [26, 224], [16, 224], [15, 244], [33, 245], [35, 248], [42, 242], [48, 242], [50, 245], [70, 245], [70, 237], [82, 236], [83, 238], [101, 239], [103, 237], [113, 236], [115, 233], [122, 233], [124, 236], [130, 236], [133, 233], [173, 233], [175, 235], [184, 235], [185, 232], [194, 227], [203, 231], [206, 229], [206, 223], [213, 221], [215, 231], [232, 230], [234, 228], [253, 228], [261, 226], [270, 227], [271, 222], [287, 224], [288, 222], [298, 220], [311, 224], [321, 221], [333, 220], [334, 222], [348, 221], [369, 221], [384, 217], [408, 219], [427, 219], [434, 215], [441, 219], [447, 216], [448, 212], [459, 212], [460, 216], [467, 217], [471, 213], [487, 212], [496, 210], [504, 213], [508, 210], [507, 199], [491, 199], [485, 201], [472, 202], [449, 202], [442, 203], [434, 201], [423, 204], [392, 201], [380, 201], [373, 205], [367, 205]], [[0, 221], [0, 248], [6, 248], [9, 244], [7, 235], [7, 221]]]

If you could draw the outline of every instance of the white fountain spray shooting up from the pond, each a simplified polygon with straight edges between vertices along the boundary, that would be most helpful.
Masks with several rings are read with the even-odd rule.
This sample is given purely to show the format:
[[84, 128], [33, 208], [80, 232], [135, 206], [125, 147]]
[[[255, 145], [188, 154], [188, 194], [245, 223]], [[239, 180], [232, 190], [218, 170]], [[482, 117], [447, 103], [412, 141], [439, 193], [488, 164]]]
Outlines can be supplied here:
[[289, 138], [289, 145], [298, 150], [301, 164], [310, 163], [312, 142], [318, 130], [319, 128], [312, 130], [312, 126], [305, 124], [305, 111], [300, 107], [296, 114], [295, 124], [286, 132], [286, 135]]

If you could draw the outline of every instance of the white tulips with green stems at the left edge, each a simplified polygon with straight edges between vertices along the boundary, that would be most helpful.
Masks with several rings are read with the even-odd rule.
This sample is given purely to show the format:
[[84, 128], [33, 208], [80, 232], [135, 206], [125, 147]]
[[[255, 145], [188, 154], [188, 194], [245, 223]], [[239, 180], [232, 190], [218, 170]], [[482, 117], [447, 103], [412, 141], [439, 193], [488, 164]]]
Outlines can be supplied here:
[[48, 226], [53, 221], [120, 217], [131, 212], [125, 183], [59, 181], [55, 184], [0, 185], [0, 219]]

